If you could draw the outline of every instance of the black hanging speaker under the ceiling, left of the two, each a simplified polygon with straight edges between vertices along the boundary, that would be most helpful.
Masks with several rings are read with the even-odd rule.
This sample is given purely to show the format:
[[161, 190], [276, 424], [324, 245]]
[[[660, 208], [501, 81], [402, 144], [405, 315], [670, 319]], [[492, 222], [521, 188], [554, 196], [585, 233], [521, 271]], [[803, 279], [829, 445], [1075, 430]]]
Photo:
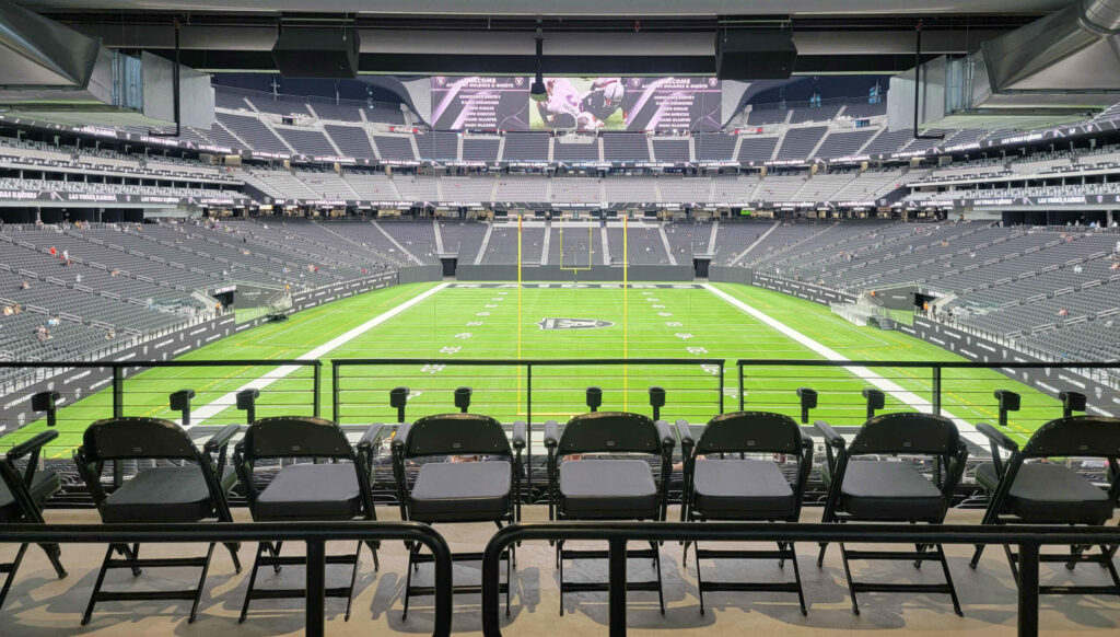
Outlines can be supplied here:
[[352, 79], [357, 75], [358, 45], [354, 27], [284, 27], [272, 59], [284, 77]]

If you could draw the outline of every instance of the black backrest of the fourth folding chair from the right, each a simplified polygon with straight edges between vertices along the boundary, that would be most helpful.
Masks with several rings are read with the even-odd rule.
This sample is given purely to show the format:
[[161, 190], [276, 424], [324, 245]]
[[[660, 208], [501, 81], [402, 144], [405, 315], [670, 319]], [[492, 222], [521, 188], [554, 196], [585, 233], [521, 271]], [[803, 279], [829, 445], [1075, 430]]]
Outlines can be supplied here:
[[628, 412], [595, 412], [568, 421], [557, 447], [572, 453], [661, 453], [661, 436], [653, 421]]

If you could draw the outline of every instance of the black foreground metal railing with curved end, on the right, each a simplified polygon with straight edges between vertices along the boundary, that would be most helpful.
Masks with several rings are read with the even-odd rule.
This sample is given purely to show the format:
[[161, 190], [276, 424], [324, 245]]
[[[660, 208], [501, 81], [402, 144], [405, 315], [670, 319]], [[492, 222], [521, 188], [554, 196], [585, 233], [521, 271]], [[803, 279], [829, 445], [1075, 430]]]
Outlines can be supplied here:
[[1018, 552], [1018, 634], [1038, 635], [1039, 548], [1120, 543], [1116, 527], [902, 526], [762, 523], [520, 523], [498, 530], [483, 556], [483, 635], [502, 637], [498, 617], [500, 558], [510, 546], [531, 541], [600, 541], [608, 544], [608, 635], [626, 635], [626, 544], [628, 542], [860, 542], [876, 544], [1007, 544]]

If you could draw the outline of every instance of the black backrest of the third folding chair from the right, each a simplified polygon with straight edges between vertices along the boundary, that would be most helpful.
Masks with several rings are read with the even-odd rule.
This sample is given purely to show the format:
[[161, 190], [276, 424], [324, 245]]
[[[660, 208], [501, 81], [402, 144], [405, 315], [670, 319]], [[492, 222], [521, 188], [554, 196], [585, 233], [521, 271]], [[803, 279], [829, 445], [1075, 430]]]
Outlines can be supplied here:
[[790, 416], [769, 412], [735, 412], [708, 421], [696, 453], [800, 454], [801, 428]]

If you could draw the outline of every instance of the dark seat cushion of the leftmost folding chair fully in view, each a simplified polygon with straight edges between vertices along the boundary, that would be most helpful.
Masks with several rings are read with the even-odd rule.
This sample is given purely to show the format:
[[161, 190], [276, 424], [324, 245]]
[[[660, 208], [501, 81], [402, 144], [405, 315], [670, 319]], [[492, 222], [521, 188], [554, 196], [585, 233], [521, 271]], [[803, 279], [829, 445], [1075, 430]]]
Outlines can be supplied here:
[[[232, 468], [222, 474], [222, 487], [233, 487]], [[113, 491], [101, 505], [106, 523], [198, 521], [214, 515], [214, 501], [198, 467], [144, 469]]]

